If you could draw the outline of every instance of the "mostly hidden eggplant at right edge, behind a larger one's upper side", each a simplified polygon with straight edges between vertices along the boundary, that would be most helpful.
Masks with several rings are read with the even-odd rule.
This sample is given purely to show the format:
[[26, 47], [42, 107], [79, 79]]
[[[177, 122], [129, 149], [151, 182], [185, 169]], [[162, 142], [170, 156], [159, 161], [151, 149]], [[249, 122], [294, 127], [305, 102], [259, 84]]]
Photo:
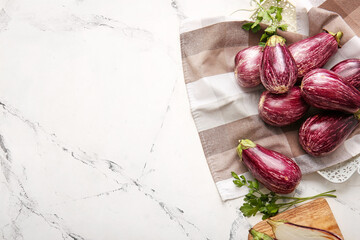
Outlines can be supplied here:
[[331, 71], [339, 74], [346, 82], [360, 90], [360, 59], [351, 58], [339, 62]]

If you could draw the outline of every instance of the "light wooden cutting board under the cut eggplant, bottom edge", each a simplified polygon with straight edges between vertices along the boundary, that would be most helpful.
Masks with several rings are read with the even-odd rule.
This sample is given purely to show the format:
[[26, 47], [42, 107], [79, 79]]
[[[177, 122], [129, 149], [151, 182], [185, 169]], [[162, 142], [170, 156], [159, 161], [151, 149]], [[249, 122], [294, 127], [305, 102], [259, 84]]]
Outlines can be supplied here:
[[[343, 239], [343, 236], [341, 234], [339, 226], [336, 223], [330, 206], [324, 198], [319, 198], [300, 205], [299, 207], [287, 210], [283, 213], [279, 213], [271, 219], [283, 219], [304, 226], [324, 229], [337, 234]], [[272, 229], [270, 225], [266, 222], [266, 220], [257, 223], [254, 226], [254, 229], [259, 232], [266, 233], [271, 237], [274, 237]], [[252, 240], [252, 236], [250, 234], [248, 239]]]

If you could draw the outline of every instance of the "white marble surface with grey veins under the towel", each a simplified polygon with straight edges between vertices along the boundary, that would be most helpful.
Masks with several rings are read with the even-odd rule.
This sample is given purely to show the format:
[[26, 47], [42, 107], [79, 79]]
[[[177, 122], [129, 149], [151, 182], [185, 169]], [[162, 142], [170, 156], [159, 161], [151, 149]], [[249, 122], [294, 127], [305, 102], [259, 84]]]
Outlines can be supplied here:
[[[248, 1], [1, 0], [0, 239], [246, 239], [183, 82], [179, 21]], [[356, 239], [360, 176], [304, 177]]]

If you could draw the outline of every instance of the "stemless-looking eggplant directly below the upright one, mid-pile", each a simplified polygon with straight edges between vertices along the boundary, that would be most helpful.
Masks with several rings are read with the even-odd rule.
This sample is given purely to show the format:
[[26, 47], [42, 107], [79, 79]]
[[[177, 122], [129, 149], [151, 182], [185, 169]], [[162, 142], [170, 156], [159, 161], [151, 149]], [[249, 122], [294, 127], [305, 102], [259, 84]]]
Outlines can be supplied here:
[[265, 91], [260, 96], [259, 116], [272, 126], [286, 126], [302, 118], [309, 105], [301, 97], [300, 87], [292, 87], [284, 94]]

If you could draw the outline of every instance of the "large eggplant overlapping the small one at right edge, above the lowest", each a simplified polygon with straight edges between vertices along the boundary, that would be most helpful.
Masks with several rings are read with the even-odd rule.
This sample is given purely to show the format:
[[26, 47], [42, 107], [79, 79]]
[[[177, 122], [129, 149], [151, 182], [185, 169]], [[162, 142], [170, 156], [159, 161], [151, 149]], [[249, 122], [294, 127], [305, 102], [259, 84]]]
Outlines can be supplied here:
[[327, 69], [314, 69], [301, 82], [301, 95], [310, 105], [355, 113], [360, 109], [360, 91]]

